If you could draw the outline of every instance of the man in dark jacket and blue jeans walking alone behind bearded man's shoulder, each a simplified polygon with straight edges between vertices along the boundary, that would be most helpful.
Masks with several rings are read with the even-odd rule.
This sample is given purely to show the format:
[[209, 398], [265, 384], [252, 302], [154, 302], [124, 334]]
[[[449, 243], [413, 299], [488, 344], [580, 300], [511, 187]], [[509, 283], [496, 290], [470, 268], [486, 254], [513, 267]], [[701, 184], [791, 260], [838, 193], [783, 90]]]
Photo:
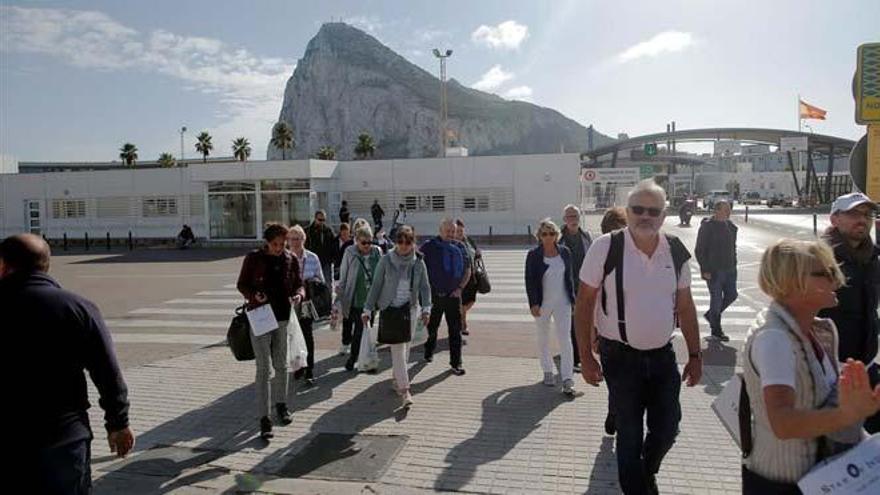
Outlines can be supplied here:
[[709, 286], [709, 310], [703, 315], [712, 336], [723, 342], [730, 338], [721, 329], [721, 313], [736, 300], [736, 232], [730, 221], [730, 203], [715, 202], [715, 214], [700, 223], [694, 254], [700, 273]]

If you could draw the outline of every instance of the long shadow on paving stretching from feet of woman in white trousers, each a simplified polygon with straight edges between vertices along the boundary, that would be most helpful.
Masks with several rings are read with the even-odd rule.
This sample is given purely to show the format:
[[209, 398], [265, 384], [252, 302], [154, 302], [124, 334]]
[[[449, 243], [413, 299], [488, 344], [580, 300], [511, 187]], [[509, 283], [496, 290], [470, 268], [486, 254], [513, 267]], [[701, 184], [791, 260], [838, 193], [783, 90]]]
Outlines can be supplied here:
[[511, 387], [486, 397], [479, 431], [449, 451], [445, 459], [448, 466], [435, 481], [434, 489], [461, 490], [480, 465], [503, 458], [538, 429], [544, 417], [568, 400], [558, 389], [541, 383]]

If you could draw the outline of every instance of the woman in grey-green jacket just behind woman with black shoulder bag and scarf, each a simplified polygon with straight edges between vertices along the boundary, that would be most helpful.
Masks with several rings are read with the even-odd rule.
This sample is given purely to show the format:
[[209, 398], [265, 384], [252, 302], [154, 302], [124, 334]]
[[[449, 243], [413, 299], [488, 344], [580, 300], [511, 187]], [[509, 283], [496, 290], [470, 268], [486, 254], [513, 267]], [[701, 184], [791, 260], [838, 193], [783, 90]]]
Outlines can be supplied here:
[[346, 248], [342, 255], [339, 284], [336, 286], [336, 305], [331, 317], [334, 321], [342, 317], [342, 341], [345, 345], [351, 344], [351, 353], [345, 363], [348, 371], [354, 370], [360, 354], [361, 336], [364, 332], [361, 313], [373, 283], [376, 265], [382, 257], [379, 247], [373, 244], [373, 230], [369, 224], [361, 225], [355, 231], [354, 238], [355, 244]]

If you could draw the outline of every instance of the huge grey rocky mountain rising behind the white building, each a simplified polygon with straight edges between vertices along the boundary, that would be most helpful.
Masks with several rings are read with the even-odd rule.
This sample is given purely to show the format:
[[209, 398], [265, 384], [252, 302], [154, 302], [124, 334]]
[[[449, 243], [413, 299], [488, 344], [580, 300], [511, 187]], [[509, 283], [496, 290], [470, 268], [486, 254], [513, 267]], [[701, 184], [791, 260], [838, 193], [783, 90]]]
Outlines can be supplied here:
[[[438, 156], [440, 81], [367, 33], [324, 24], [288, 80], [279, 119], [294, 129], [294, 158], [332, 146], [354, 157], [357, 136], [369, 133], [376, 158]], [[471, 155], [584, 151], [587, 129], [561, 113], [462, 86], [447, 85], [448, 129]], [[594, 146], [611, 138], [594, 132]], [[291, 154], [287, 153], [288, 158]], [[281, 150], [269, 144], [269, 159]]]

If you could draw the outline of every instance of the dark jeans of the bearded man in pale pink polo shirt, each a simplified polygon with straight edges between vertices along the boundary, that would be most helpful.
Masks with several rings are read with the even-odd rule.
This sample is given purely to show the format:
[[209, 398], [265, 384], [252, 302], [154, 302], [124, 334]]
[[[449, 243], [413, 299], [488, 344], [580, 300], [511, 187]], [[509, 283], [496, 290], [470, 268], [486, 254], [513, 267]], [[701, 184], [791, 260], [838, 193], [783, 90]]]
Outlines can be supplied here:
[[620, 487], [627, 495], [649, 494], [648, 480], [660, 470], [681, 421], [681, 375], [675, 352], [671, 344], [639, 351], [602, 338], [599, 355], [617, 428]]

